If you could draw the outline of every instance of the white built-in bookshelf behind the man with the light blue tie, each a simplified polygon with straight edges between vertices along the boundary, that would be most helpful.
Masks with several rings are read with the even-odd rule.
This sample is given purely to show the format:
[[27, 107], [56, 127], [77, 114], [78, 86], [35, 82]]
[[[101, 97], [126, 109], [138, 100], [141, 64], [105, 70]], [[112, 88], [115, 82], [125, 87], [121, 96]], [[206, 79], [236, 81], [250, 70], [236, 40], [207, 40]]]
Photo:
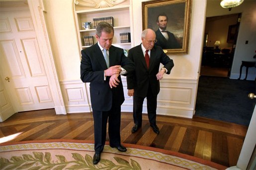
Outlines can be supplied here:
[[[114, 38], [112, 45], [118, 46], [124, 49], [130, 49], [133, 44], [133, 30], [132, 30], [132, 19], [131, 19], [131, 3], [132, 0], [122, 0], [118, 3], [113, 0], [111, 6], [99, 6], [98, 0], [95, 1], [95, 8], [92, 5], [87, 6], [89, 3], [85, 3], [86, 0], [74, 0], [74, 15], [77, 29], [78, 43], [80, 50], [89, 47], [85, 43], [85, 36], [93, 36], [93, 43], [96, 43], [95, 28], [93, 27], [93, 18], [113, 17], [114, 23]], [[103, 2], [103, 0], [102, 0]], [[83, 28], [83, 22], [90, 22], [90, 29], [85, 30]], [[130, 33], [130, 42], [121, 41], [121, 33]], [[124, 42], [124, 43], [121, 43]]]

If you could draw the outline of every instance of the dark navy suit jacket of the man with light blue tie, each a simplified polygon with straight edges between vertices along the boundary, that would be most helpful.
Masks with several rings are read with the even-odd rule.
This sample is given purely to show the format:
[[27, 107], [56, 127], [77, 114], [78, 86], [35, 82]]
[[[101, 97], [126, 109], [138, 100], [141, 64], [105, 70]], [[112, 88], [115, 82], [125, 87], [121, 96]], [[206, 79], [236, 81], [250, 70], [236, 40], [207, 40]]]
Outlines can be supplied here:
[[[110, 88], [109, 78], [104, 81], [107, 65], [97, 43], [81, 51], [81, 80], [90, 82], [91, 107], [97, 111], [109, 111], [112, 105], [121, 106], [124, 92], [121, 77], [117, 87]], [[109, 67], [121, 65], [128, 73], [134, 70], [134, 63], [124, 55], [122, 48], [113, 45], [109, 48]]]

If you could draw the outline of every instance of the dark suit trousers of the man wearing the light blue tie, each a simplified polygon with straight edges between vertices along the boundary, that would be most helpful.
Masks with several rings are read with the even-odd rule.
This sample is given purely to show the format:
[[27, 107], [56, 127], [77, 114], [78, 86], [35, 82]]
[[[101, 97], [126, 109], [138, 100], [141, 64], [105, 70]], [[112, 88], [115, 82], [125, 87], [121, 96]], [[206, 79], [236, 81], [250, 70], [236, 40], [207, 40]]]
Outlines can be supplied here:
[[106, 127], [108, 120], [109, 143], [120, 146], [121, 106], [112, 106], [110, 111], [93, 111], [94, 120], [94, 150], [96, 154], [103, 151], [106, 141]]

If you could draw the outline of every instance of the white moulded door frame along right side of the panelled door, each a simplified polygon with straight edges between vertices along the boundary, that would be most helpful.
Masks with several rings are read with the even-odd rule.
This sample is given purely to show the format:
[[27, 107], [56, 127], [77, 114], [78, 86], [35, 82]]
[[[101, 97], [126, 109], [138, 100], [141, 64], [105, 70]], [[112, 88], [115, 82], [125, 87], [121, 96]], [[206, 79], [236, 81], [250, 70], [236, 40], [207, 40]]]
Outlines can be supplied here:
[[45, 10], [43, 0], [27, 0], [27, 2], [35, 27], [36, 36], [40, 42], [39, 48], [43, 63], [46, 68], [46, 76], [48, 78], [50, 91], [52, 93], [55, 112], [57, 115], [66, 115], [67, 111], [59, 84], [57, 69], [55, 67], [54, 57], [44, 17], [44, 13], [47, 13], [47, 11]]

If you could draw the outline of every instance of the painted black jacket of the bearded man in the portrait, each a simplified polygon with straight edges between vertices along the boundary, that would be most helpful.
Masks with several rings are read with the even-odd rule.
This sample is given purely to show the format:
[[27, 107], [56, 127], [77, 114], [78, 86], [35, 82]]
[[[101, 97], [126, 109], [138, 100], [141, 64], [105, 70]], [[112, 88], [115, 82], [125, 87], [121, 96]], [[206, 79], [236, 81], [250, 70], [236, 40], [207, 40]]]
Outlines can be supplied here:
[[180, 44], [177, 42], [175, 36], [167, 31], [169, 39], [166, 40], [166, 38], [163, 36], [161, 31], [158, 29], [156, 31], [156, 36], [157, 36], [157, 43], [156, 45], [161, 46], [163, 49], [176, 49], [176, 48], [181, 48]]

